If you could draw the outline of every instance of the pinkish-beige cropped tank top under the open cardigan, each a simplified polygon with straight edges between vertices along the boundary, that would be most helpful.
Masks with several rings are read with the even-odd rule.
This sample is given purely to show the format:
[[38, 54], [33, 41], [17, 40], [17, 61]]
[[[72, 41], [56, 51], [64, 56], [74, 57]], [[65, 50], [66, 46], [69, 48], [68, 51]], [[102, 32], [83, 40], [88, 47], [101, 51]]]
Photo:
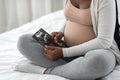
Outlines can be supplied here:
[[[92, 25], [90, 9], [88, 11], [85, 11], [85, 9], [79, 9], [75, 7], [70, 0], [67, 0], [66, 6], [64, 8], [64, 15], [67, 20], [72, 22], [83, 25]], [[82, 17], [80, 15], [82, 15]]]

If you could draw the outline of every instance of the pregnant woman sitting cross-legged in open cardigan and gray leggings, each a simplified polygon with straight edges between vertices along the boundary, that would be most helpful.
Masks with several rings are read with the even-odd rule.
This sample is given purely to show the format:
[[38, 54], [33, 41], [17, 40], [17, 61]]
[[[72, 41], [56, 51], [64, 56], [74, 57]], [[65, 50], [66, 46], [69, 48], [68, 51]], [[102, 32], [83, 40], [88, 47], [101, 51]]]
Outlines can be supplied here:
[[[67, 0], [66, 24], [52, 32], [54, 43], [44, 48], [33, 34], [18, 41], [19, 51], [31, 64], [18, 64], [16, 71], [54, 74], [73, 80], [95, 80], [108, 75], [120, 63], [114, 40], [115, 0]], [[62, 45], [64, 39], [66, 47]]]

